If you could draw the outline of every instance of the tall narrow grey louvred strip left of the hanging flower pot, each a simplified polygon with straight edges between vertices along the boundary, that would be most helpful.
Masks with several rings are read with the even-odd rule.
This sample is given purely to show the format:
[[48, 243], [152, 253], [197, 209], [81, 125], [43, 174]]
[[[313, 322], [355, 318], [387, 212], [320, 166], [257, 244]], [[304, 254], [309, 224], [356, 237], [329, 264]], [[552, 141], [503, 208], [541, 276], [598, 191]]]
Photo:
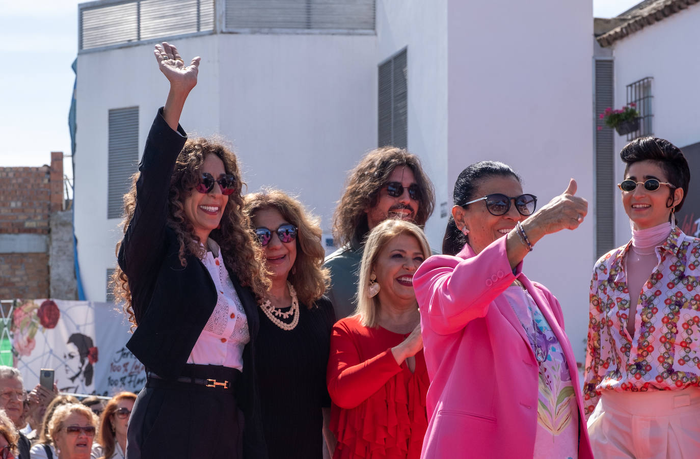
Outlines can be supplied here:
[[[613, 62], [596, 59], [595, 62], [595, 113], [615, 106]], [[596, 257], [615, 248], [615, 131], [600, 129], [605, 122], [596, 116]]]

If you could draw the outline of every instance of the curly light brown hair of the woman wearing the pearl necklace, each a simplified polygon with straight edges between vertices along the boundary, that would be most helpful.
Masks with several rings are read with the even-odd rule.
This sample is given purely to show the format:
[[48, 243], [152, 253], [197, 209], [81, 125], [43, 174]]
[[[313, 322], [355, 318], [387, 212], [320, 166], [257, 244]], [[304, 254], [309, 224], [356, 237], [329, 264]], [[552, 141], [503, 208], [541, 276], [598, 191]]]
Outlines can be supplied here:
[[267, 189], [246, 195], [244, 211], [251, 220], [262, 209], [278, 211], [284, 220], [297, 227], [297, 259], [288, 281], [294, 285], [299, 301], [309, 309], [330, 285], [330, 273], [323, 267], [325, 250], [321, 245], [319, 219], [304, 210], [295, 198], [281, 190]]

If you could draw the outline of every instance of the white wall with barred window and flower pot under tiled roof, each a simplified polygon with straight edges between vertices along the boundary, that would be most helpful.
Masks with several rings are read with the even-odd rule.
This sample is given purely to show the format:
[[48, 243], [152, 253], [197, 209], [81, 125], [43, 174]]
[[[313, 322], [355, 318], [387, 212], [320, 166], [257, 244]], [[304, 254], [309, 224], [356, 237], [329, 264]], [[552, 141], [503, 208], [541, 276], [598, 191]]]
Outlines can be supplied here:
[[[652, 129], [654, 136], [683, 147], [700, 141], [700, 5], [636, 31], [612, 44], [615, 57], [615, 107], [626, 104], [626, 85], [651, 76]], [[619, 153], [626, 136], [615, 136]], [[617, 156], [619, 158], [619, 155]], [[624, 176], [624, 163], [617, 161], [615, 176]], [[615, 208], [615, 241], [618, 246], [631, 237], [629, 218], [622, 201]]]

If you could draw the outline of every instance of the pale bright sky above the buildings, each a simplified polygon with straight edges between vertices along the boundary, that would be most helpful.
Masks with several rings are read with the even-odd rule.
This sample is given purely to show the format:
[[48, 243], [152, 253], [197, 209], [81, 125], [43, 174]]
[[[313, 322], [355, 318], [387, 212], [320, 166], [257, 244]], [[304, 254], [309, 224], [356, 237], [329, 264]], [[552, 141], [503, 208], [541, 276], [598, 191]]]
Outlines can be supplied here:
[[[517, 0], [512, 0], [517, 1]], [[593, 0], [594, 17], [613, 17], [640, 0]], [[6, 0], [0, 14], [0, 167], [41, 166], [71, 154], [68, 111], [78, 52], [78, 1]], [[69, 159], [69, 158], [68, 158]], [[64, 163], [71, 177], [70, 161]]]

